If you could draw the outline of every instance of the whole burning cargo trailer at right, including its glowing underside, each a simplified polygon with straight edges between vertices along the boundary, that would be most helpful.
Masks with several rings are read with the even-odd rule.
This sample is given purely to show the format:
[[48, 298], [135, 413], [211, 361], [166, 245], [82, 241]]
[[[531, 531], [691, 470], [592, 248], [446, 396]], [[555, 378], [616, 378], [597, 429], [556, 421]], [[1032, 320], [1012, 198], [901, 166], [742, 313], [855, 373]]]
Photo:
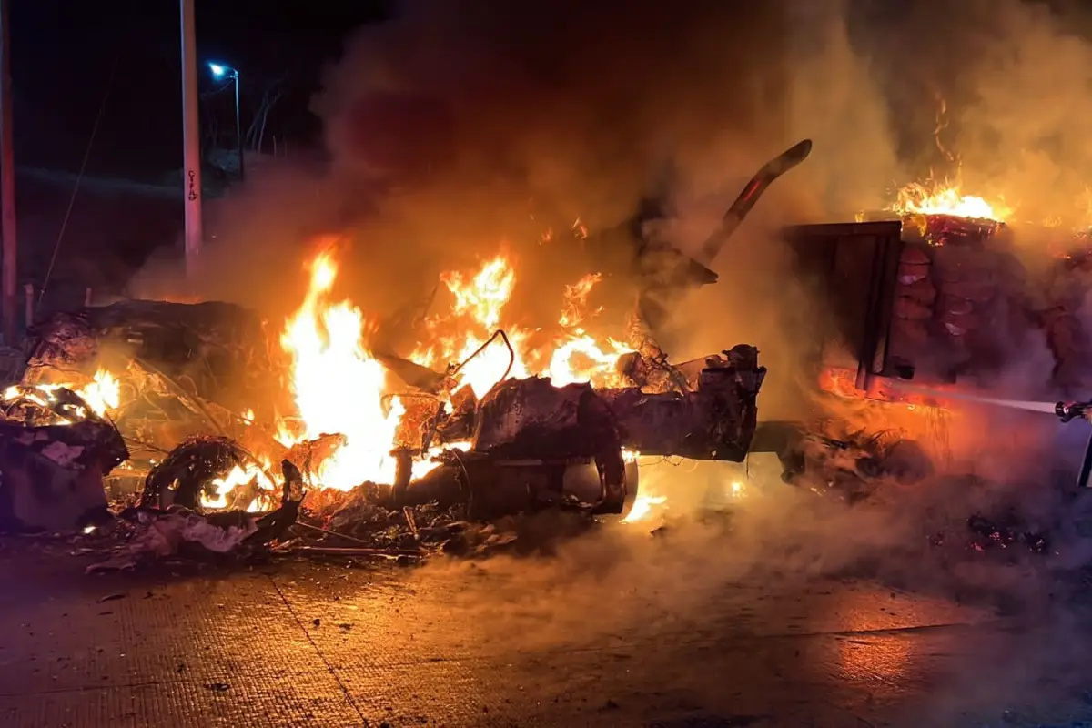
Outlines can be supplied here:
[[[1068, 463], [1042, 419], [1019, 413], [1053, 411], [1092, 385], [1088, 235], [1018, 225], [1004, 205], [954, 188], [911, 186], [893, 213], [787, 230], [829, 306], [810, 353], [818, 416], [779, 450], [786, 474], [822, 477], [831, 463], [853, 463], [841, 468], [848, 487], [835, 490], [856, 498], [882, 485], [875, 474], [889, 475], [895, 451], [911, 466], [894, 468], [904, 485], [973, 470], [1006, 440]], [[1092, 449], [1082, 486], [1090, 463]]]

